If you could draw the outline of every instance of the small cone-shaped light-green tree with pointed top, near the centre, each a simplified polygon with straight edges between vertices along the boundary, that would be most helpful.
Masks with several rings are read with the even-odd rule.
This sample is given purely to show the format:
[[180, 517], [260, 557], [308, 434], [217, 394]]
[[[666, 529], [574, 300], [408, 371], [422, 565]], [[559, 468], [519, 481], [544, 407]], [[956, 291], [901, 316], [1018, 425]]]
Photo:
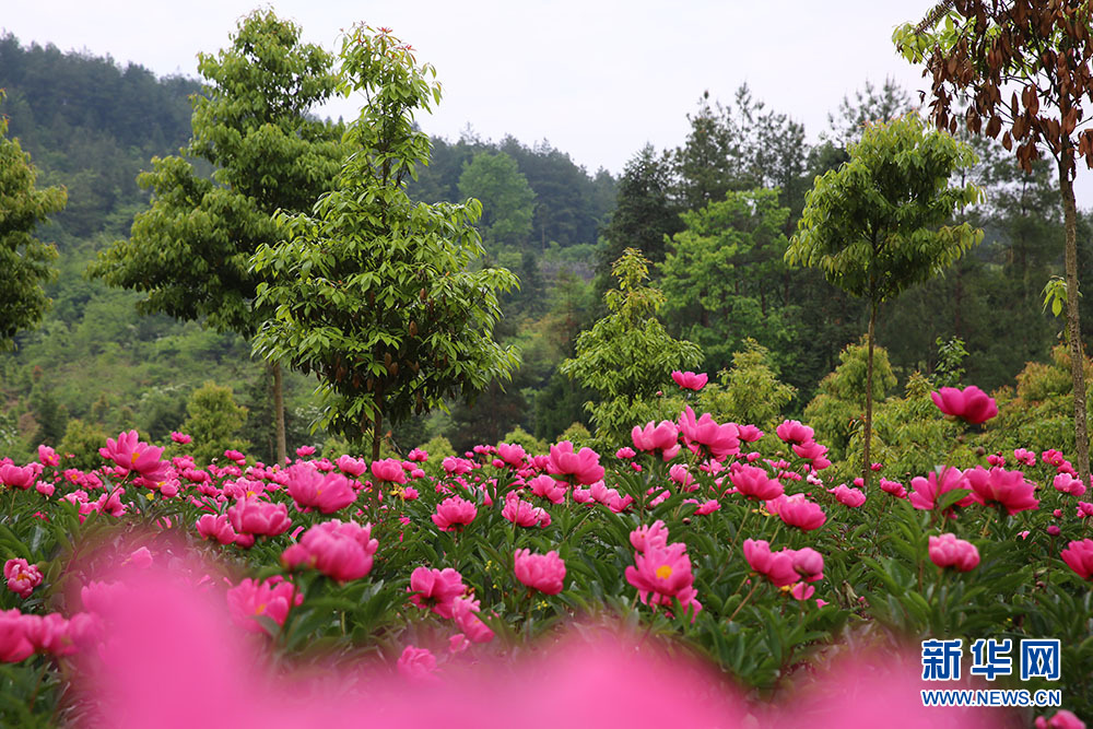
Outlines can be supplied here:
[[670, 381], [672, 371], [702, 362], [697, 344], [672, 339], [657, 319], [665, 295], [645, 283], [648, 259], [627, 248], [611, 272], [619, 280], [606, 296], [611, 313], [577, 337], [574, 356], [559, 368], [600, 396], [600, 402], [586, 402], [585, 409], [597, 437], [604, 439], [621, 437], [647, 415], [649, 401]]

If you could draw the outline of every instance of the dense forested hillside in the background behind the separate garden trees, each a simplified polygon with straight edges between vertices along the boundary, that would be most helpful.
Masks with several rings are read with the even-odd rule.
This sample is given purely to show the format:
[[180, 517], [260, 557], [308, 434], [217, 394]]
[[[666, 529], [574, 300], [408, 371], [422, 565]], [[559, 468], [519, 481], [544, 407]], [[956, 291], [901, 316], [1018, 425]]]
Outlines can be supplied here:
[[[270, 458], [272, 410], [263, 367], [250, 344], [231, 334], [140, 316], [136, 293], [84, 275], [87, 264], [129, 235], [149, 192], [137, 176], [153, 156], [176, 154], [190, 138], [189, 96], [197, 81], [156, 79], [139, 66], [62, 54], [56, 47], [0, 39], [3, 113], [38, 168], [38, 185], [63, 185], [68, 207], [38, 236], [56, 244], [59, 277], [51, 313], [0, 355], [0, 445], [12, 455], [32, 444], [77, 448], [121, 428], [164, 438], [215, 418], [225, 438]], [[837, 99], [832, 99], [832, 106]], [[522, 352], [512, 383], [491, 386], [473, 407], [450, 402], [397, 428], [399, 449], [445, 436], [462, 449], [496, 442], [520, 426], [543, 439], [574, 422], [589, 424], [581, 389], [559, 366], [578, 333], [607, 309], [610, 264], [626, 247], [653, 262], [651, 285], [666, 302], [668, 330], [702, 348], [715, 375], [754, 340], [796, 393], [800, 413], [839, 353], [865, 332], [866, 308], [812, 269], [783, 260], [816, 175], [847, 160], [862, 125], [910, 108], [903, 90], [867, 86], [845, 98], [810, 145], [794, 110], [773, 110], [747, 86], [727, 102], [698, 101], [691, 131], [675, 149], [636, 150], [619, 179], [590, 174], [542, 141], [434, 138], [432, 162], [410, 183], [424, 202], [481, 200], [479, 230], [487, 260], [520, 279], [503, 302], [496, 334]], [[982, 162], [965, 174], [986, 203], [972, 211], [982, 245], [942, 278], [885, 304], [878, 341], [900, 381], [933, 371], [938, 340], [963, 340], [967, 377], [985, 389], [1011, 385], [1025, 363], [1046, 361], [1060, 331], [1042, 291], [1062, 268], [1061, 212], [1049, 167], [1019, 172], [1010, 156], [976, 142]], [[198, 165], [202, 174], [212, 171]], [[1082, 201], [1079, 201], [1081, 204]], [[1080, 220], [1083, 275], [1093, 275], [1090, 215]], [[1093, 318], [1083, 317], [1086, 336]], [[308, 433], [317, 409], [314, 381], [286, 378], [290, 447], [321, 444]], [[891, 388], [890, 392], [898, 392]]]

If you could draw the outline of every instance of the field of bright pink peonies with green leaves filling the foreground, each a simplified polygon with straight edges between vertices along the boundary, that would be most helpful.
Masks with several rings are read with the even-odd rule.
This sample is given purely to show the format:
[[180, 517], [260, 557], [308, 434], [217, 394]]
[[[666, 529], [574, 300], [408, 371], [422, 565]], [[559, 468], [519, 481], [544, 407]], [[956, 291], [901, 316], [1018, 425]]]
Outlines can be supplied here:
[[[933, 400], [998, 412], [974, 387]], [[1071, 729], [1093, 710], [1093, 504], [1058, 450], [904, 482], [878, 462], [867, 485], [808, 424], [690, 405], [613, 451], [269, 466], [189, 445], [130, 431], [94, 470], [46, 446], [3, 460], [5, 726]], [[1054, 667], [1019, 650], [1051, 640]]]

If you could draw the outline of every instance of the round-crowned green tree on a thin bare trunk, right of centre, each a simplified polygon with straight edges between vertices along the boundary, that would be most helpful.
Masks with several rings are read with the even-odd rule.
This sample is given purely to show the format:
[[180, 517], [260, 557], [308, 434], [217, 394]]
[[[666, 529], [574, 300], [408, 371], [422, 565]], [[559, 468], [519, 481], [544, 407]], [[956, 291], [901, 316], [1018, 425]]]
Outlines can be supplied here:
[[849, 152], [849, 162], [816, 178], [786, 260], [820, 268], [831, 283], [869, 304], [861, 466], [868, 485], [877, 308], [939, 274], [983, 231], [945, 224], [980, 197], [974, 185], [949, 184], [975, 162], [968, 145], [907, 115], [870, 126]]

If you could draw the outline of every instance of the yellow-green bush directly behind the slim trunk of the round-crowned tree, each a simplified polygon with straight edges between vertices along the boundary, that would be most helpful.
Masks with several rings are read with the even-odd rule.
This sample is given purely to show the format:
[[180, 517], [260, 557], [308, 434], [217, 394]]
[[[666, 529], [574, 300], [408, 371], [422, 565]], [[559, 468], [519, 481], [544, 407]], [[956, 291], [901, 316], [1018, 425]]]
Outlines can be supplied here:
[[[866, 407], [869, 346], [862, 338], [838, 355], [839, 365], [820, 380], [819, 392], [804, 408], [804, 418], [816, 431], [816, 439], [831, 448], [832, 460], [847, 456], [850, 437], [861, 427]], [[895, 387], [895, 375], [883, 346], [873, 350], [873, 400], [884, 400]]]

